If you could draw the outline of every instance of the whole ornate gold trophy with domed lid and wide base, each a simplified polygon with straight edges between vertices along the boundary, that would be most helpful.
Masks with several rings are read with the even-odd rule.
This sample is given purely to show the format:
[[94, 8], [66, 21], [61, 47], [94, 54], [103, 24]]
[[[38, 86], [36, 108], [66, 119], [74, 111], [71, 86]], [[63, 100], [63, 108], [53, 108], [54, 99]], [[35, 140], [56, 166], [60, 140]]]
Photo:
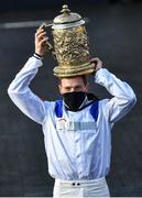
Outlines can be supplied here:
[[54, 75], [72, 77], [92, 73], [85, 21], [78, 13], [70, 12], [66, 4], [61, 12], [52, 24], [54, 56], [58, 64], [53, 69]]

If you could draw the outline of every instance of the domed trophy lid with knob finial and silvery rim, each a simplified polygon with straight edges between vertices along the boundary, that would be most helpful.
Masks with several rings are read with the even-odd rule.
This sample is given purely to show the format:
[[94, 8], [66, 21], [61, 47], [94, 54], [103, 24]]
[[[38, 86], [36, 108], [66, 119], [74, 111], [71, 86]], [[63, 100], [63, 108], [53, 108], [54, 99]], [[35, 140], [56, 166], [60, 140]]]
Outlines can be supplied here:
[[61, 13], [53, 20], [52, 29], [66, 29], [85, 24], [83, 18], [78, 13], [70, 12], [67, 4], [63, 6]]

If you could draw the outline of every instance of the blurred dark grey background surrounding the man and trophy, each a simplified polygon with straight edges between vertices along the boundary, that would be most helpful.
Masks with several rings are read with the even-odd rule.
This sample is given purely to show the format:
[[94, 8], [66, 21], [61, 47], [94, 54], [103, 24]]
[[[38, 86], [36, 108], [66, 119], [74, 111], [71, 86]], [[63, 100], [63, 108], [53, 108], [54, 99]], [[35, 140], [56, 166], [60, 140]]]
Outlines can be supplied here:
[[[54, 180], [47, 173], [41, 125], [12, 103], [7, 89], [34, 53], [34, 33], [58, 15], [62, 6], [87, 19], [90, 55], [125, 80], [138, 102], [112, 131], [111, 196], [142, 196], [142, 2], [140, 0], [6, 0], [0, 2], [0, 197], [50, 197]], [[51, 30], [47, 30], [51, 35]], [[44, 58], [31, 89], [45, 100], [59, 97], [51, 54]], [[100, 99], [108, 92], [94, 85]]]

